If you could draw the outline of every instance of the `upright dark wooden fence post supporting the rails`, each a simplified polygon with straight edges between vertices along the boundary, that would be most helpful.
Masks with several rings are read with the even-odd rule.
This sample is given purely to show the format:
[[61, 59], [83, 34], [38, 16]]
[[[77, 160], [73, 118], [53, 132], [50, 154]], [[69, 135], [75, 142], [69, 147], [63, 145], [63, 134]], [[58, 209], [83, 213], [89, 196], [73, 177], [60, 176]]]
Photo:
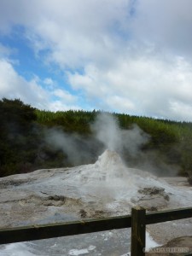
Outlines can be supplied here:
[[143, 207], [131, 209], [131, 256], [145, 255], [145, 215]]

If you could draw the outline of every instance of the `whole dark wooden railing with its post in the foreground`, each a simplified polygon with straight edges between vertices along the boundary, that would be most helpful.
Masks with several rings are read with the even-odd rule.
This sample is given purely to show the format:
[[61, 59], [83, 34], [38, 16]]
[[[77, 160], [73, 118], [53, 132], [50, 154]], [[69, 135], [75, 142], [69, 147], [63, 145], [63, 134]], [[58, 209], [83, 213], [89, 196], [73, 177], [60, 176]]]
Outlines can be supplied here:
[[192, 207], [147, 214], [142, 207], [134, 207], [126, 216], [1, 229], [0, 244], [131, 228], [131, 256], [143, 256], [146, 224], [191, 217]]

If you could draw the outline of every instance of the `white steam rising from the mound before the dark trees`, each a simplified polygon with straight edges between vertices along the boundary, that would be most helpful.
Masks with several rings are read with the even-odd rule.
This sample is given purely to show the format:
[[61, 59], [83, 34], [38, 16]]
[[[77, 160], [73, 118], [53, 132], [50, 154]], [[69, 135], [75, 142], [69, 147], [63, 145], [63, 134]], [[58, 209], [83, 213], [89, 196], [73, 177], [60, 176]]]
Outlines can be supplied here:
[[109, 113], [99, 113], [90, 129], [94, 137], [86, 139], [59, 129], [49, 129], [46, 132], [46, 141], [52, 148], [62, 150], [74, 165], [95, 161], [94, 155], [97, 158], [105, 149], [119, 154], [126, 151], [131, 156], [136, 156], [141, 146], [148, 142], [148, 135], [137, 125], [131, 130], [122, 130], [118, 120]]

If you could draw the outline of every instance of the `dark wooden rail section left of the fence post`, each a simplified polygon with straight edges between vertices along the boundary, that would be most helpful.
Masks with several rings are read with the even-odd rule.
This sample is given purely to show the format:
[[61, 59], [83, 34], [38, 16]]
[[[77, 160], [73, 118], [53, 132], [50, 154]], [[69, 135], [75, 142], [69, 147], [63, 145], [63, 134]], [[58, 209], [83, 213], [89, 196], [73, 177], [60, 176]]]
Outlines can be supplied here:
[[74, 236], [105, 230], [118, 230], [131, 227], [131, 215], [114, 217], [87, 219], [84, 221], [74, 221], [57, 224], [33, 225], [16, 227], [13, 229], [0, 230], [0, 244], [47, 239], [59, 236]]

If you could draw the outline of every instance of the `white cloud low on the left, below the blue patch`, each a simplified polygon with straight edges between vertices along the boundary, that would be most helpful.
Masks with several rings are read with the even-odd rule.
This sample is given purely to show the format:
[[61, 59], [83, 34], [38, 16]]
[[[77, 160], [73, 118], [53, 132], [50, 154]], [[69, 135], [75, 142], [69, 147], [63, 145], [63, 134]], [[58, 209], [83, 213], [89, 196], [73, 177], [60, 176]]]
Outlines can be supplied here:
[[[49, 79], [45, 81], [50, 82]], [[43, 83], [44, 84], [44, 83]], [[53, 101], [52, 96], [58, 100]], [[76, 105], [78, 98], [60, 89], [46, 90], [38, 78], [27, 81], [16, 73], [14, 67], [7, 60], [0, 60], [0, 98], [19, 98], [21, 101], [40, 109], [52, 111], [79, 109]]]

